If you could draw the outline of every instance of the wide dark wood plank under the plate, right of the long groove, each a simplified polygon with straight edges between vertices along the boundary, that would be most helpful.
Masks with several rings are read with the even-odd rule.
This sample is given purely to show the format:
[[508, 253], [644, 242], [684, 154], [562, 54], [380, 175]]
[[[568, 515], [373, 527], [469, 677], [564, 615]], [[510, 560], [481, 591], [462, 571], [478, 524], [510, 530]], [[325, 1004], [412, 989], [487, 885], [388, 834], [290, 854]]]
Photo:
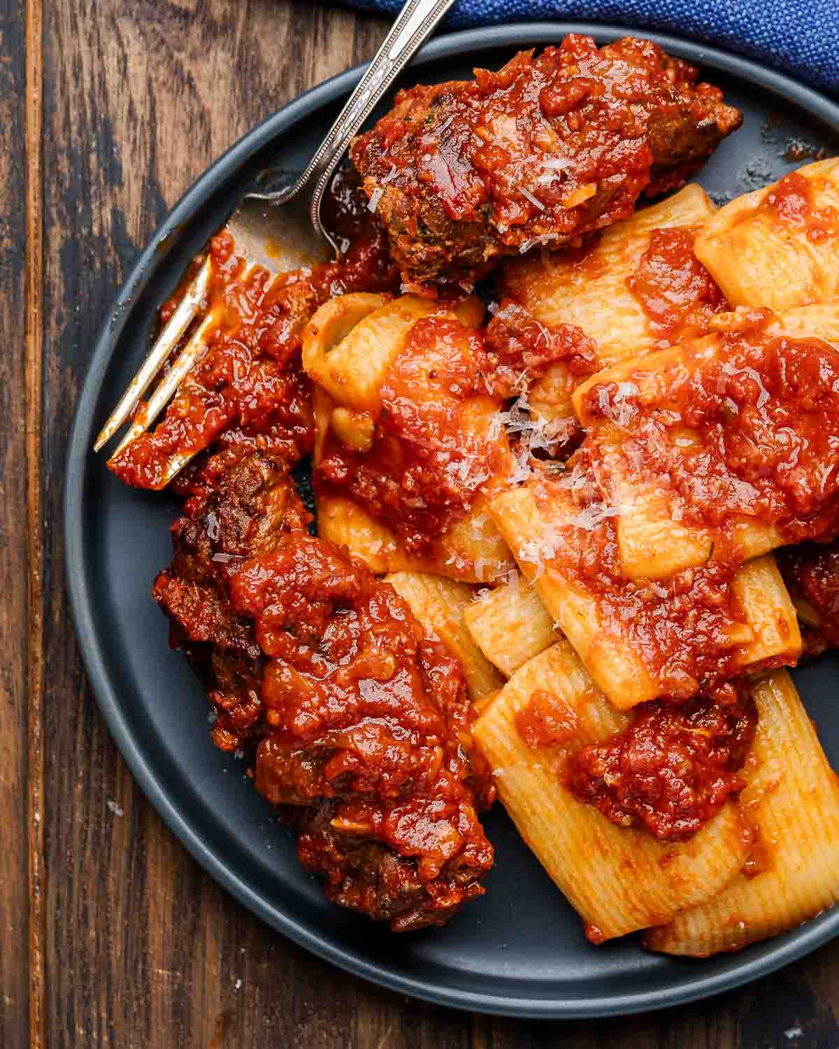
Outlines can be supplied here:
[[[14, 0], [10, 9], [18, 9]], [[839, 944], [718, 1002], [639, 1020], [557, 1025], [470, 1016], [371, 987], [306, 955], [236, 904], [166, 830], [92, 703], [69, 626], [57, 523], [78, 385], [122, 272], [167, 207], [282, 102], [372, 55], [385, 23], [297, 0], [56, 0], [44, 19], [43, 506], [33, 520], [39, 528], [46, 521], [39, 648], [48, 654], [45, 1044], [834, 1049], [839, 1035], [827, 1003], [839, 999]], [[14, 137], [0, 126], [4, 131]], [[0, 176], [2, 164], [0, 156]], [[6, 180], [0, 187], [9, 192]], [[0, 333], [13, 323], [2, 312], [4, 292], [0, 283]], [[0, 369], [16, 367], [0, 361]], [[0, 386], [6, 377], [14, 385], [15, 373], [0, 370]], [[6, 441], [8, 432], [14, 428]], [[16, 446], [0, 447], [4, 464], [14, 465]], [[14, 470], [4, 477], [20, 484]], [[0, 537], [14, 523], [14, 510], [5, 509], [10, 494], [0, 508]], [[0, 563], [0, 579], [12, 580], [12, 568]], [[21, 625], [0, 621], [0, 629], [14, 634]], [[10, 672], [14, 687], [23, 669]], [[12, 767], [23, 775], [20, 755]], [[0, 814], [14, 816], [14, 783], [0, 784]], [[0, 858], [4, 881], [18, 871], [7, 871], [9, 862]], [[6, 983], [15, 964], [0, 952], [4, 992], [18, 986]], [[798, 1026], [802, 1036], [788, 1037]]]

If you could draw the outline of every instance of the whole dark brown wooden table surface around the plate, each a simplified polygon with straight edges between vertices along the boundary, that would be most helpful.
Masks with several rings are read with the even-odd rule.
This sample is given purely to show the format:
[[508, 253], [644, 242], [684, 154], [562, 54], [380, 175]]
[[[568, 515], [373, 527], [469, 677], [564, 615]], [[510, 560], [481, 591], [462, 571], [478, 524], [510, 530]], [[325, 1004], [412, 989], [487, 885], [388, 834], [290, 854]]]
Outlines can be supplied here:
[[602, 1023], [469, 1015], [363, 983], [201, 871], [100, 716], [60, 528], [96, 328], [203, 168], [384, 28], [311, 0], [0, 0], [0, 1046], [837, 1049], [839, 942], [714, 1002]]

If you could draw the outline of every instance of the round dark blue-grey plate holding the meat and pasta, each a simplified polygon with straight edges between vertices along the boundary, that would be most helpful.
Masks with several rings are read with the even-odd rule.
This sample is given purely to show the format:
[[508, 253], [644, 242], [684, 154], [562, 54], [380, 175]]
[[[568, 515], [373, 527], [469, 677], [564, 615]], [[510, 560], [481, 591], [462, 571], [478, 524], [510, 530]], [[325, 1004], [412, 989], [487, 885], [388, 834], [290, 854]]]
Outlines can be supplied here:
[[[630, 30], [536, 23], [454, 34], [427, 46], [403, 82], [467, 77], [473, 65], [499, 65], [520, 47], [558, 42], [569, 31], [606, 42]], [[746, 114], [743, 130], [700, 176], [716, 199], [795, 167], [786, 152], [794, 141], [805, 151], [824, 145], [839, 152], [831, 143], [839, 106], [744, 59], [651, 36], [703, 65]], [[753, 980], [839, 933], [839, 909], [707, 961], [648, 955], [633, 937], [595, 948], [500, 807], [487, 819], [497, 852], [487, 895], [447, 928], [394, 937], [331, 906], [298, 865], [291, 836], [245, 778], [243, 764], [212, 746], [201, 688], [168, 648], [150, 587], [170, 560], [175, 505], [119, 484], [91, 454], [93, 434], [144, 356], [156, 308], [189, 259], [256, 171], [303, 167], [359, 76], [353, 69], [316, 87], [216, 162], [154, 235], [105, 321], [70, 437], [64, 521], [76, 627], [102, 711], [139, 786], [198, 862], [279, 932], [369, 980], [447, 1005], [529, 1016], [642, 1011]], [[839, 765], [839, 660], [795, 677]]]

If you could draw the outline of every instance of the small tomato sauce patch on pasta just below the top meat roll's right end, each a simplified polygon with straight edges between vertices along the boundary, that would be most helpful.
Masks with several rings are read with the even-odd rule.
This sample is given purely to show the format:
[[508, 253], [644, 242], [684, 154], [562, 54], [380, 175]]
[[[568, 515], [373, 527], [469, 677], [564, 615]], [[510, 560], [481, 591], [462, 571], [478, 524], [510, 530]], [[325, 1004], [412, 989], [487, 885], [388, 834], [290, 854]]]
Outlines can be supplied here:
[[729, 309], [713, 277], [693, 254], [694, 232], [653, 230], [649, 248], [626, 281], [641, 303], [659, 347], [704, 335], [714, 314]]

